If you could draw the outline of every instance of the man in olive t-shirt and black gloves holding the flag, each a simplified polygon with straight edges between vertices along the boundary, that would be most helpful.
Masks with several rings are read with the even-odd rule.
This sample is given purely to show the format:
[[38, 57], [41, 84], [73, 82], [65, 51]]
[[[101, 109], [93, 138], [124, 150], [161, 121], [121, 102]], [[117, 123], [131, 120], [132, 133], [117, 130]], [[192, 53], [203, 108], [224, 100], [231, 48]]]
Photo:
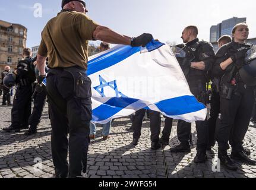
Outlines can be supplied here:
[[42, 31], [37, 55], [39, 83], [46, 77], [45, 61], [49, 58], [46, 88], [56, 178], [86, 176], [91, 121], [91, 81], [86, 75], [88, 40], [146, 46], [153, 39], [151, 34], [132, 39], [118, 34], [95, 23], [86, 12], [84, 1], [62, 0], [62, 11]]

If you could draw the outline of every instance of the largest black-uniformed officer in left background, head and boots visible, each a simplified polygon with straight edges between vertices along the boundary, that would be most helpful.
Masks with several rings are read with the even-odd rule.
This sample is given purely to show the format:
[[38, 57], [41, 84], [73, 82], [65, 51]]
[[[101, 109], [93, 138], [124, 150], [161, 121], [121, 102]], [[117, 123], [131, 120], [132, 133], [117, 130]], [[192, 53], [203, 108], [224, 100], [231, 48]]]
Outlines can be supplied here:
[[6, 132], [18, 132], [29, 127], [32, 84], [36, 80], [36, 75], [29, 48], [23, 49], [23, 57], [24, 59], [18, 62], [17, 69], [14, 70], [14, 74], [17, 75], [17, 90], [11, 110], [11, 126], [3, 129]]

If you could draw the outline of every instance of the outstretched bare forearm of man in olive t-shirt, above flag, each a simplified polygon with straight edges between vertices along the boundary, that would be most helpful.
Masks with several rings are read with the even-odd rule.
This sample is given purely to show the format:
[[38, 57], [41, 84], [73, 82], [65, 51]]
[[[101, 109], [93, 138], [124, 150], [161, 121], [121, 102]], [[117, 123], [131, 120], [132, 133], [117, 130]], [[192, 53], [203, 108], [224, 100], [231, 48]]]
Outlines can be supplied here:
[[113, 44], [131, 45], [131, 37], [118, 34], [104, 26], [98, 26], [94, 30], [93, 38]]

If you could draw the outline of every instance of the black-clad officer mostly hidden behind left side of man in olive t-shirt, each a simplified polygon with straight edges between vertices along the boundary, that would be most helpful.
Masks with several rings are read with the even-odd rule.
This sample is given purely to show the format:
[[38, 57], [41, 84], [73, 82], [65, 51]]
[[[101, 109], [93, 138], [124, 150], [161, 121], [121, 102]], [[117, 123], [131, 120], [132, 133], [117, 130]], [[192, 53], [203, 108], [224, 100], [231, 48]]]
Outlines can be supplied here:
[[[36, 67], [35, 74], [36, 74], [36, 77], [38, 77], [39, 71], [36, 66], [36, 59], [37, 57], [35, 57], [32, 62], [33, 62], [33, 65]], [[48, 65], [48, 61], [46, 61], [46, 65]], [[47, 67], [46, 67], [46, 72], [48, 72]], [[43, 113], [43, 107], [45, 107], [46, 95], [47, 95], [46, 86], [44, 84], [36, 83], [34, 87], [33, 96], [32, 96], [34, 107], [31, 115], [29, 116], [29, 130], [26, 131], [24, 135], [29, 136], [29, 135], [36, 134], [37, 125], [40, 123], [40, 118]]]

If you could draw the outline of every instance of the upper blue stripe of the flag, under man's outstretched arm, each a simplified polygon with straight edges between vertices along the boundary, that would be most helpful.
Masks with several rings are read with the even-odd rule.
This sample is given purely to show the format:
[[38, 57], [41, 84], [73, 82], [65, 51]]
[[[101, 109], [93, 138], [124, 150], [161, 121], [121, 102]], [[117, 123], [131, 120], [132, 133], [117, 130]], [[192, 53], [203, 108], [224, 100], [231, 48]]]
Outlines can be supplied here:
[[[152, 41], [147, 44], [148, 52], [151, 52], [161, 46], [165, 45], [161, 42]], [[87, 75], [94, 74], [103, 69], [109, 68], [124, 59], [129, 58], [129, 56], [134, 55], [134, 53], [140, 52], [141, 47], [131, 47], [131, 46], [122, 46], [118, 49], [114, 49], [111, 52], [100, 55], [94, 59], [91, 59], [88, 62]]]

